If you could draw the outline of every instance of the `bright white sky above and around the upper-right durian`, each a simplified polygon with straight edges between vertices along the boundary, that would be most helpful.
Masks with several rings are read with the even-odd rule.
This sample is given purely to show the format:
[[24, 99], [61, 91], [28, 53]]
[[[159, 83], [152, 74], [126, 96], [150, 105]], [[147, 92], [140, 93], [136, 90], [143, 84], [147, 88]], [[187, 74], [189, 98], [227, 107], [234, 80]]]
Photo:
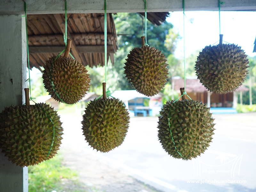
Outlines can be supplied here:
[[[216, 42], [218, 44], [220, 32], [223, 34], [223, 41], [241, 46], [250, 57], [256, 56], [256, 53], [252, 52], [256, 37], [256, 12], [221, 11], [220, 27], [218, 11], [185, 10], [185, 15], [186, 57], [197, 50], [202, 51], [205, 46]], [[182, 37], [174, 56], [183, 58], [183, 12], [172, 12], [166, 20], [173, 24], [174, 30]]]

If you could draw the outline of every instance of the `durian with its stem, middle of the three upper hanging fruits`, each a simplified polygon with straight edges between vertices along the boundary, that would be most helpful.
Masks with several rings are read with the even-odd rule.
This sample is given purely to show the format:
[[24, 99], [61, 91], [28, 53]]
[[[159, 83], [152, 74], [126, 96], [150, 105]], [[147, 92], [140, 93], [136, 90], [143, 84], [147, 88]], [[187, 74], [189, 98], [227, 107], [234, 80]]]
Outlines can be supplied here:
[[124, 74], [134, 89], [146, 96], [153, 96], [159, 93], [167, 82], [168, 64], [161, 51], [145, 45], [144, 36], [141, 38], [142, 46], [135, 47], [127, 55]]

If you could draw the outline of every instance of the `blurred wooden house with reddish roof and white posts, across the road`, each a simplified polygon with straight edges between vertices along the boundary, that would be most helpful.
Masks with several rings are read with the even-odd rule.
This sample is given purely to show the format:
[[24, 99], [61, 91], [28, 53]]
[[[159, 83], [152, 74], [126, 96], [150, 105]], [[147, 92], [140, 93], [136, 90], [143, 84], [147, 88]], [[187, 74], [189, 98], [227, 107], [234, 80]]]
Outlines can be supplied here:
[[[181, 77], [172, 77], [172, 89], [180, 93], [180, 88], [184, 87], [184, 79]], [[244, 85], [240, 86], [235, 92], [227, 94], [216, 94], [207, 91], [196, 77], [186, 79], [186, 92], [193, 100], [200, 100], [207, 103], [208, 107], [236, 108], [237, 93], [249, 91]]]

